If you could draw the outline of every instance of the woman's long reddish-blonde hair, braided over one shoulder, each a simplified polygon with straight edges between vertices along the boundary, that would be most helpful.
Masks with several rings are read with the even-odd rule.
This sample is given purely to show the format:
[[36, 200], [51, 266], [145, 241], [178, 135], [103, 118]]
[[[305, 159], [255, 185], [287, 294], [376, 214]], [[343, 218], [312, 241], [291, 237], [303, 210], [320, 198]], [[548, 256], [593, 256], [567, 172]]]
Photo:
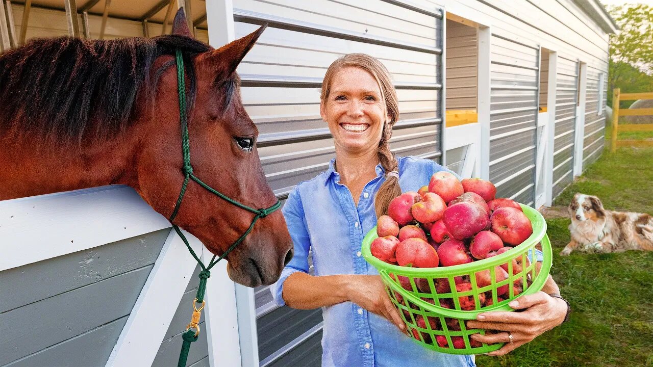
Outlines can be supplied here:
[[[381, 133], [381, 141], [379, 141], [377, 154], [386, 174], [391, 171], [398, 171], [399, 165], [397, 160], [394, 157], [394, 153], [390, 152], [390, 137], [392, 137], [392, 127], [399, 120], [399, 102], [397, 100], [397, 93], [392, 85], [390, 72], [383, 66], [381, 61], [366, 54], [347, 54], [340, 57], [340, 59], [337, 59], [328, 67], [322, 82], [320, 99], [323, 104], [326, 103], [331, 91], [334, 75], [345, 67], [358, 67], [363, 69], [372, 74], [377, 84], [379, 84], [381, 99], [385, 102], [389, 120], [383, 122], [383, 133]], [[395, 176], [386, 176], [385, 182], [379, 188], [374, 199], [377, 217], [387, 214], [390, 200], [398, 197], [401, 193], [402, 189], [399, 186], [399, 179]]]

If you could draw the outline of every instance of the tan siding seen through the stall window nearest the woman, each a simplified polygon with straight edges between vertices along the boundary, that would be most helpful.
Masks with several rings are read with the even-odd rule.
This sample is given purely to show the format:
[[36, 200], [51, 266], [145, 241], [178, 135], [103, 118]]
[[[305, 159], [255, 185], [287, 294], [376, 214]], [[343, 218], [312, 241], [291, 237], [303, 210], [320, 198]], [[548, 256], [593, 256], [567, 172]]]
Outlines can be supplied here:
[[476, 28], [447, 20], [447, 110], [475, 110], [478, 86]]

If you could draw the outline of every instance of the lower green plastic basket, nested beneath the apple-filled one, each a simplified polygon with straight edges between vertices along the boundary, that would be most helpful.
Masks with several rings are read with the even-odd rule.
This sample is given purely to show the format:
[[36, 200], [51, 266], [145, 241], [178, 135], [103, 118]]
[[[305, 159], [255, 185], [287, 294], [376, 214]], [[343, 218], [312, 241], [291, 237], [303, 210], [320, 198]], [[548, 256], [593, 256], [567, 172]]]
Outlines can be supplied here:
[[[551, 259], [551, 247], [549, 237], [546, 234], [542, 238], [542, 247], [545, 259]], [[546, 260], [543, 262], [543, 268], [545, 267], [550, 267], [550, 263], [547, 264]], [[471, 355], [496, 351], [505, 345], [505, 343], [485, 344], [470, 338], [472, 334], [480, 333], [485, 335], [488, 332], [488, 330], [468, 329], [466, 327], [465, 321], [476, 319], [476, 315], [481, 311], [458, 311], [434, 306], [424, 302], [424, 300], [415, 298], [406, 289], [398, 286], [396, 281], [390, 279], [386, 272], [381, 273], [381, 279], [385, 283], [390, 300], [392, 300], [404, 323], [406, 323], [411, 337], [423, 347], [441, 353]], [[539, 290], [541, 290], [541, 285], [536, 286], [534, 283], [528, 288], [528, 291], [522, 294], [534, 293]], [[507, 307], [507, 310], [513, 310], [507, 304], [505, 307]], [[503, 308], [501, 307], [501, 309]], [[489, 310], [483, 309], [483, 312]], [[496, 311], [497, 309], [492, 310]], [[419, 325], [418, 320], [420, 318], [429, 322]], [[445, 341], [444, 346], [438, 344], [438, 337]], [[456, 341], [456, 339], [458, 340]], [[458, 344], [456, 345], [456, 343]], [[476, 344], [471, 345], [471, 343]]]

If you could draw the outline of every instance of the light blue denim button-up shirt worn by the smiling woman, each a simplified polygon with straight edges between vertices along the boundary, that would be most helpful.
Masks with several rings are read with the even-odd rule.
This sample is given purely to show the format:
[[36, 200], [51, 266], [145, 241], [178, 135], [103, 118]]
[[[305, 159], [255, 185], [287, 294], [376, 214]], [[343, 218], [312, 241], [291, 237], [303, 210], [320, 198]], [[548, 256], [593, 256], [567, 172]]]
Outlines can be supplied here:
[[[398, 157], [403, 192], [417, 191], [434, 172], [447, 168], [427, 159]], [[377, 177], [368, 182], [354, 204], [351, 193], [341, 185], [334, 170], [335, 159], [326, 172], [296, 185], [283, 206], [295, 255], [272, 286], [279, 306], [283, 282], [294, 272], [309, 272], [311, 249], [315, 276], [334, 274], [379, 274], [360, 254], [365, 234], [376, 225], [374, 197], [385, 182], [385, 171], [377, 165]], [[449, 355], [431, 351], [404, 335], [387, 319], [353, 304], [342, 302], [323, 307], [322, 366], [475, 366], [470, 355]]]

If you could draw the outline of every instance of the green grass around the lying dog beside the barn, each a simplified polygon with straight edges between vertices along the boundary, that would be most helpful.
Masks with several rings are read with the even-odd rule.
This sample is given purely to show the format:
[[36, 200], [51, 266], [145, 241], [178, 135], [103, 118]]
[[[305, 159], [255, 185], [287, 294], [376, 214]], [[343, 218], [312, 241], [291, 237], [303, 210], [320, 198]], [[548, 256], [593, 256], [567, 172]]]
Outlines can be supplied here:
[[[653, 214], [652, 182], [653, 148], [606, 150], [554, 206], [566, 206], [581, 192], [597, 195], [611, 210]], [[477, 356], [480, 367], [653, 367], [653, 253], [560, 257], [569, 223], [566, 217], [547, 219], [551, 274], [571, 304], [570, 321], [505, 356]]]

